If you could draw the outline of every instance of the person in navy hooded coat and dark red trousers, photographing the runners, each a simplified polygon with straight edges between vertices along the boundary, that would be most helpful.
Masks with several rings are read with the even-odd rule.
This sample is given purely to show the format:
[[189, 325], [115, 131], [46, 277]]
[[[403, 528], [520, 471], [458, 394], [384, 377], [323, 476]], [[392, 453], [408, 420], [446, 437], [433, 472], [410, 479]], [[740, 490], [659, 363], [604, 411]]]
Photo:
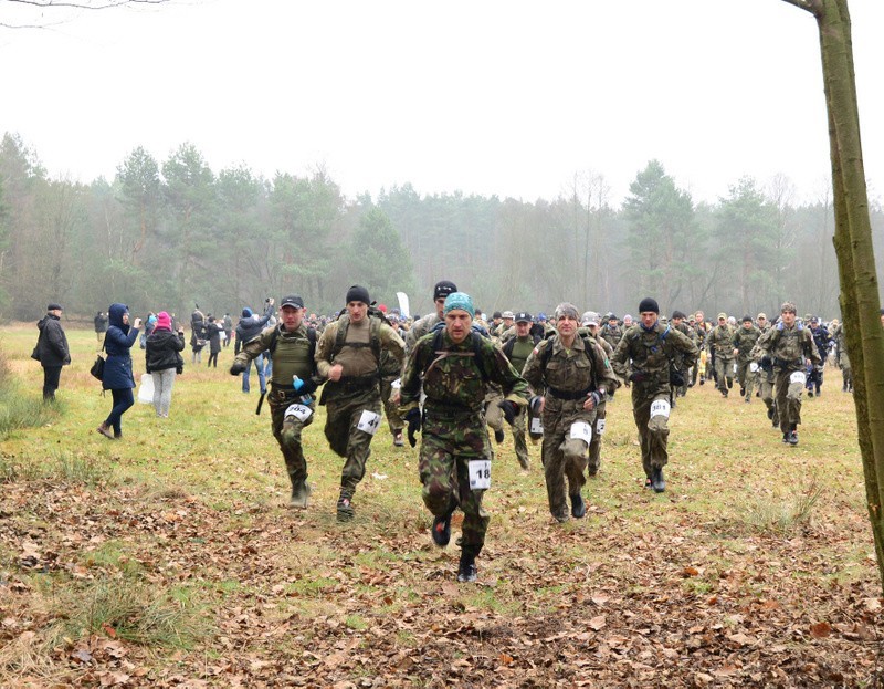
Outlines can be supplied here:
[[[110, 325], [104, 340], [107, 359], [104, 363], [102, 387], [110, 390], [114, 408], [110, 409], [110, 416], [98, 426], [97, 430], [105, 438], [114, 440], [123, 437], [120, 418], [135, 404], [131, 394], [135, 387], [135, 376], [131, 373], [129, 349], [138, 340], [141, 319], [135, 319], [135, 323], [129, 325], [129, 307], [125, 304], [110, 304], [107, 313]], [[110, 435], [112, 428], [114, 429], [113, 436]]]

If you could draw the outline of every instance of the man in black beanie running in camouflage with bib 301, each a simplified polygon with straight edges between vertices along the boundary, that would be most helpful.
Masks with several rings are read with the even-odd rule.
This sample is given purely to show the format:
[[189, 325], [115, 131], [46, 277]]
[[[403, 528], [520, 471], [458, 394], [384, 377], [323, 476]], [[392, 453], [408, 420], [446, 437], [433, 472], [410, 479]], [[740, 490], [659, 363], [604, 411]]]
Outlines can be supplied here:
[[639, 428], [645, 488], [666, 490], [663, 467], [669, 462], [667, 442], [672, 385], [672, 361], [682, 354], [685, 370], [696, 363], [699, 349], [682, 332], [660, 322], [656, 300], [646, 296], [639, 304], [641, 321], [631, 326], [617, 345], [611, 365], [614, 373], [632, 384], [632, 416]]

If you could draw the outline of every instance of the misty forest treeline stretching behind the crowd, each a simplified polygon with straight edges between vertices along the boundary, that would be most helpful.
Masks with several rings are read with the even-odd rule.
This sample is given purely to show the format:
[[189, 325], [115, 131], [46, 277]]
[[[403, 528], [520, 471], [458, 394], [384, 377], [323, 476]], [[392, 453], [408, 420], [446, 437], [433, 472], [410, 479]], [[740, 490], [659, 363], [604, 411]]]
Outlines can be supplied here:
[[[141, 147], [113, 180], [53, 178], [17, 134], [0, 147], [0, 317], [33, 320], [61, 301], [69, 316], [110, 302], [238, 314], [302, 294], [308, 311], [343, 306], [352, 283], [412, 312], [453, 280], [486, 312], [635, 312], [646, 295], [670, 313], [776, 312], [839, 317], [831, 200], [797, 205], [786, 178], [735, 179], [696, 202], [665, 161], [636, 170], [614, 207], [603, 174], [575, 175], [556, 199], [451, 194], [411, 185], [346, 198], [322, 168], [272, 179], [245, 165], [212, 170], [182, 144], [165, 160]], [[877, 247], [884, 213], [872, 209]], [[881, 252], [878, 251], [878, 262]], [[881, 272], [881, 267], [878, 267]]]

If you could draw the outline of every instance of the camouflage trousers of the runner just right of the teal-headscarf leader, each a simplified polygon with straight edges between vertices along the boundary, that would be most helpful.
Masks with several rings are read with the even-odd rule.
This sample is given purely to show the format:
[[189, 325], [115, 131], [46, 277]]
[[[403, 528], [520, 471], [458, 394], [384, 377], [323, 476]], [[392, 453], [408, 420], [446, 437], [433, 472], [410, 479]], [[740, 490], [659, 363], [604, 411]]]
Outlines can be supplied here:
[[583, 409], [583, 399], [557, 399], [547, 395], [540, 457], [549, 512], [559, 521], [568, 519], [568, 495], [580, 493], [587, 482], [583, 470], [589, 459], [589, 442], [576, 436], [580, 425], [588, 425], [591, 432], [594, 420], [596, 410]]

